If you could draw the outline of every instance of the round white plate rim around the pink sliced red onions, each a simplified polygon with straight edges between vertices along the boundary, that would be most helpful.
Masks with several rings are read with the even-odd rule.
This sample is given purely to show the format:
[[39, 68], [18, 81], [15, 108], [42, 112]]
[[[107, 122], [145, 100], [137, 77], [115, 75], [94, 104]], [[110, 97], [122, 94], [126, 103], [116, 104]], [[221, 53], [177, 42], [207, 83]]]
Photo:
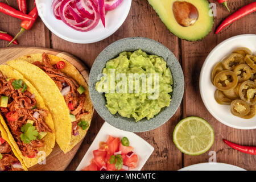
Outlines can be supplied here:
[[44, 24], [46, 24], [47, 28], [53, 32], [53, 34], [59, 36], [61, 39], [79, 44], [98, 42], [114, 34], [114, 32], [121, 27], [123, 22], [125, 22], [131, 7], [131, 0], [123, 0], [121, 5], [112, 11], [108, 11], [106, 14], [106, 28], [104, 28], [100, 20], [93, 30], [80, 32], [55, 18], [53, 10], [51, 9], [53, 0], [35, 1], [40, 18], [43, 20]]

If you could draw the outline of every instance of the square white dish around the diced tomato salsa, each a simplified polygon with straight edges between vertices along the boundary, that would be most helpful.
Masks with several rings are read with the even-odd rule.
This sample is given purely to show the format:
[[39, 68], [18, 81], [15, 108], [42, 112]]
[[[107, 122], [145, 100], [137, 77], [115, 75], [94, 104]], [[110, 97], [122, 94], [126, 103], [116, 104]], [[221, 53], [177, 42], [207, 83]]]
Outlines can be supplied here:
[[115, 127], [109, 125], [109, 123], [107, 122], [105, 122], [104, 125], [101, 127], [93, 143], [90, 145], [88, 151], [84, 155], [84, 158], [82, 158], [79, 166], [76, 168], [76, 171], [81, 171], [81, 169], [85, 168], [90, 164], [90, 160], [93, 159], [93, 151], [99, 148], [100, 142], [106, 142], [106, 140], [108, 139], [108, 135], [119, 138], [127, 137], [129, 139], [130, 146], [134, 147], [134, 152], [138, 155], [137, 167], [131, 169], [131, 171], [141, 171], [142, 167], [147, 162], [147, 159], [154, 151], [154, 147], [152, 147], [149, 143], [147, 143], [138, 135], [128, 131], [116, 129]]

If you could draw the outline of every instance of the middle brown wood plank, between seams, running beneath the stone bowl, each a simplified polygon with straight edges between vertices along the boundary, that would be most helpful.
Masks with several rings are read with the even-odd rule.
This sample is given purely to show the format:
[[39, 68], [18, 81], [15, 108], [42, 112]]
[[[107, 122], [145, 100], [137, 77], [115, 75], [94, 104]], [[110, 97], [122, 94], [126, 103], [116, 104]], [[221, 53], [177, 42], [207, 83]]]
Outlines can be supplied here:
[[[102, 49], [118, 39], [131, 36], [143, 36], [157, 40], [164, 44], [164, 46], [171, 49], [179, 59], [178, 39], [167, 30], [159, 19], [159, 16], [146, 0], [134, 0], [125, 23], [123, 23], [119, 30], [112, 36], [102, 40], [101, 42], [94, 44], [73, 44], [65, 42], [64, 40], [57, 38], [57, 36], [52, 35], [52, 46], [55, 49], [71, 52], [73, 55], [80, 57], [81, 60], [84, 60], [85, 63], [91, 67]], [[170, 121], [158, 129], [145, 133], [137, 133], [155, 148], [154, 153], [151, 155], [151, 158], [148, 159], [143, 170], [176, 170], [182, 167], [181, 152], [177, 150], [172, 142], [172, 133], [177, 121], [180, 120], [180, 117], [181, 109], [177, 111]], [[94, 114], [88, 134], [67, 170], [76, 169], [103, 123], [104, 121], [101, 117], [98, 114]]]

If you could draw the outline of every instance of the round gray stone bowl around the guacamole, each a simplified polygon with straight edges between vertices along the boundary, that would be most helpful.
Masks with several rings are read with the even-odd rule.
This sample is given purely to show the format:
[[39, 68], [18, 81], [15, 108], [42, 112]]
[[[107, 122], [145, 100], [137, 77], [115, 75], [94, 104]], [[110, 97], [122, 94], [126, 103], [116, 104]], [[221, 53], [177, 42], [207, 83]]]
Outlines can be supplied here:
[[[123, 51], [136, 51], [137, 49], [142, 49], [142, 51], [149, 54], [162, 56], [167, 62], [167, 66], [171, 69], [174, 85], [171, 97], [172, 101], [169, 107], [162, 109], [158, 115], [155, 115], [155, 117], [150, 120], [144, 118], [141, 121], [135, 122], [134, 118], [126, 118], [121, 117], [119, 114], [111, 114], [105, 106], [106, 98], [104, 94], [97, 92], [95, 85], [98, 81], [98, 75], [102, 73], [107, 61], [117, 57], [119, 53]], [[131, 132], [149, 131], [166, 123], [177, 111], [183, 98], [184, 76], [179, 61], [177, 61], [174, 54], [167, 47], [163, 46], [163, 44], [147, 38], [125, 38], [110, 44], [100, 53], [100, 55], [98, 55], [90, 70], [89, 92], [97, 113], [110, 125]]]

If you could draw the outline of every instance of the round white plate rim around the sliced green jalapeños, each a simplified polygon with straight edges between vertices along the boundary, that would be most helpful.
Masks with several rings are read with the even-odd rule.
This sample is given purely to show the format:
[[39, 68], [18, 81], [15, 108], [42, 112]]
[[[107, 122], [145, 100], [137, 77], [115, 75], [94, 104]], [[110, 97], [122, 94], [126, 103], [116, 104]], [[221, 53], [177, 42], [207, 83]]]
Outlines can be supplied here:
[[215, 86], [211, 82], [211, 74], [216, 63], [220, 62], [226, 55], [231, 53], [235, 48], [247, 47], [256, 53], [256, 35], [238, 35], [229, 38], [218, 44], [208, 55], [204, 61], [204, 65], [200, 73], [200, 94], [210, 114], [224, 125], [234, 127], [236, 129], [256, 129], [256, 117], [251, 119], [243, 119], [234, 116], [230, 112], [229, 105], [220, 105], [214, 99]]

